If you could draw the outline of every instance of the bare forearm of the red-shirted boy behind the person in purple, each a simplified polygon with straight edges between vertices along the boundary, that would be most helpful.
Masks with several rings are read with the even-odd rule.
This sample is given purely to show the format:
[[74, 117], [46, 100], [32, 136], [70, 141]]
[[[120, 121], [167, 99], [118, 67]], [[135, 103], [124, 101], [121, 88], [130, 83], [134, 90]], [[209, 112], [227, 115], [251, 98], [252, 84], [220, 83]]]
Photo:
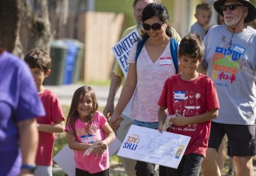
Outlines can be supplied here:
[[38, 130], [46, 133], [62, 133], [64, 131], [64, 121], [59, 118], [54, 124], [40, 124], [38, 123]]

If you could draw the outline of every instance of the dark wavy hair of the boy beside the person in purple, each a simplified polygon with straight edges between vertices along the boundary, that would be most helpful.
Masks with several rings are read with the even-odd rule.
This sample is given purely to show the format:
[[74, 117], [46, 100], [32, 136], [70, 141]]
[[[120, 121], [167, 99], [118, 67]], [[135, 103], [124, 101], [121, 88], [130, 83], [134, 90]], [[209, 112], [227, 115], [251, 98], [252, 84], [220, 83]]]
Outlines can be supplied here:
[[51, 58], [50, 55], [42, 48], [34, 48], [26, 53], [24, 57], [25, 62], [30, 68], [40, 68], [44, 70], [44, 73], [50, 70]]

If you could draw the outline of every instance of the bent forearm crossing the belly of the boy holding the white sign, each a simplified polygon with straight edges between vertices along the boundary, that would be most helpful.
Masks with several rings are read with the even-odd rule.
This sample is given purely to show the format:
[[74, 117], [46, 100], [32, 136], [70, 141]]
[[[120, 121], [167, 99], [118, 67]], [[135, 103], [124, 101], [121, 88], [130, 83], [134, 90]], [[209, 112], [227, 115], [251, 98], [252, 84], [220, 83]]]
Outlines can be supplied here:
[[176, 113], [176, 118], [170, 118], [170, 122], [172, 122], [175, 126], [186, 126], [194, 123], [202, 123], [210, 121], [211, 119], [217, 118], [218, 109], [207, 111], [206, 113], [199, 114], [192, 117], [185, 117], [181, 114]]

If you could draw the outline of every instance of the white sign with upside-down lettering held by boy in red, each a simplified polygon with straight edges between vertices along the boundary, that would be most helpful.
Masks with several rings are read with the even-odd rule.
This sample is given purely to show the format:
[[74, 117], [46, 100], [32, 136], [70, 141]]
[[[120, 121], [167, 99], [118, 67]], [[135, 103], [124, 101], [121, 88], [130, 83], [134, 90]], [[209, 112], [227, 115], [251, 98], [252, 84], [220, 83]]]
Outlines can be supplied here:
[[132, 125], [118, 156], [177, 169], [189, 142], [188, 136]]

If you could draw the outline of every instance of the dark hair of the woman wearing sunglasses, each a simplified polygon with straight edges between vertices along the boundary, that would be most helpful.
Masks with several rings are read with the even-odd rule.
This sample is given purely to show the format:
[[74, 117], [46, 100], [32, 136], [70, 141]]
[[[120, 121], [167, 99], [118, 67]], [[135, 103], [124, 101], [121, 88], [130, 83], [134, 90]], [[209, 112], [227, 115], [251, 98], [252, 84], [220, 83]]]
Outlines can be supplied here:
[[[145, 22], [147, 19], [158, 17], [161, 22], [169, 22], [169, 14], [166, 6], [163, 6], [161, 3], [153, 2], [148, 4], [142, 12], [142, 22]], [[166, 28], [166, 34], [172, 38], [170, 25], [168, 24]], [[144, 33], [142, 38], [148, 38], [148, 34]]]

